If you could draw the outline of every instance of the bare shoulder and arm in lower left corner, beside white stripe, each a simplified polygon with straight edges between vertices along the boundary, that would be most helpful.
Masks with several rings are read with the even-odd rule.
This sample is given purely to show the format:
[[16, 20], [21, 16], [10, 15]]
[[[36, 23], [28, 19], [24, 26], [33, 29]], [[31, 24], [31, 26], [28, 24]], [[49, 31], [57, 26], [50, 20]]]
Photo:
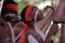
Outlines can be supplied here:
[[[8, 38], [9, 40], [6, 40]], [[4, 42], [13, 43], [10, 27], [0, 16], [0, 43], [4, 43]]]

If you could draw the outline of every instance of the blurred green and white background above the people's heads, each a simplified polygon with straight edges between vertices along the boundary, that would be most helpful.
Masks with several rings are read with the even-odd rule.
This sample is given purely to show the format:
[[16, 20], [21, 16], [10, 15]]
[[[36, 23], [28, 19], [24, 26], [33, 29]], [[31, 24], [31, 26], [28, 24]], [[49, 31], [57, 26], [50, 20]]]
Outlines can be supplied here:
[[18, 14], [27, 5], [32, 4], [37, 5], [40, 10], [42, 10], [46, 5], [51, 5], [56, 9], [61, 0], [14, 0], [18, 3]]

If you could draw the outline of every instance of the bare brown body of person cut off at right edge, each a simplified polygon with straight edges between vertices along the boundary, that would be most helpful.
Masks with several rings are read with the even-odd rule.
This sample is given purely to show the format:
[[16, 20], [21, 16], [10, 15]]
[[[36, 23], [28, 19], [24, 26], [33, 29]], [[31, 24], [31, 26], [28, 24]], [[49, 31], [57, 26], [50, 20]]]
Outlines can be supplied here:
[[61, 0], [61, 3], [55, 11], [54, 22], [57, 24], [62, 24], [61, 43], [65, 43], [65, 0]]

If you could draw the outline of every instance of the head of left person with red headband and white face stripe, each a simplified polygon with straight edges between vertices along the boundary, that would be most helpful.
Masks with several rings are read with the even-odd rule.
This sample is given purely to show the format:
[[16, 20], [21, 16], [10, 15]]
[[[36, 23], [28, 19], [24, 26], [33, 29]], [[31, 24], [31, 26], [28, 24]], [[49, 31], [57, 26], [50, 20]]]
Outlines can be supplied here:
[[[11, 24], [17, 17], [17, 3], [14, 1], [4, 1], [2, 5], [1, 16], [5, 22], [10, 22]], [[14, 23], [12, 24], [12, 26]]]

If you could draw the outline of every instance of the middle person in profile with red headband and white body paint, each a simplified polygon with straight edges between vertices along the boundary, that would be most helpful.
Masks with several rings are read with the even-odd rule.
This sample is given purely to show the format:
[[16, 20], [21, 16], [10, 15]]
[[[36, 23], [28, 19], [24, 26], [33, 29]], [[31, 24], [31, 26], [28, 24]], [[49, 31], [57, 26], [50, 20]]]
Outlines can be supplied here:
[[22, 31], [20, 43], [43, 43], [46, 35], [38, 26], [38, 22], [43, 19], [42, 12], [34, 5], [27, 5], [21, 16], [26, 26]]

